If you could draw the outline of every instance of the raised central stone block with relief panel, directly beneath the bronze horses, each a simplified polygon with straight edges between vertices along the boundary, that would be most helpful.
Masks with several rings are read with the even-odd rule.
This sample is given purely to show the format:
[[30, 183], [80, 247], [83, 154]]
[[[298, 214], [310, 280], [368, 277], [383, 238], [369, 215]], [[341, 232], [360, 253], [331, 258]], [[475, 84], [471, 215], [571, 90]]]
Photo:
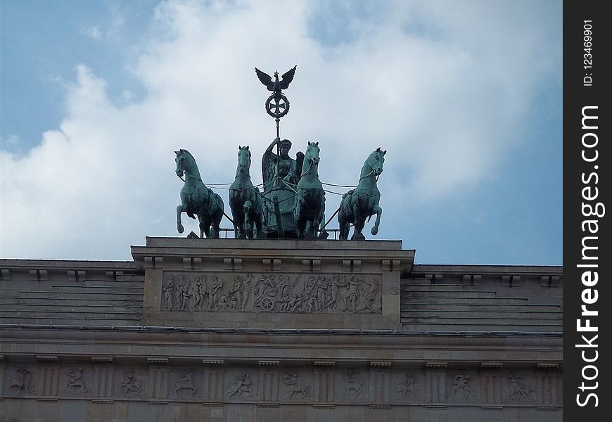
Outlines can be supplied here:
[[147, 238], [132, 255], [152, 326], [397, 329], [414, 261], [400, 241]]

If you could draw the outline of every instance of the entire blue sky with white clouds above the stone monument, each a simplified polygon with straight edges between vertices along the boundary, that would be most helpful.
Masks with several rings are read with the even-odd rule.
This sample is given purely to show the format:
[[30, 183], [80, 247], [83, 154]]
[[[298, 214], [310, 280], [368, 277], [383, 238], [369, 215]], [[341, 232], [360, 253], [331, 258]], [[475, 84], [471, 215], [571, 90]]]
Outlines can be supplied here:
[[222, 184], [248, 145], [260, 183], [276, 127], [254, 68], [297, 65], [293, 157], [319, 142], [321, 181], [355, 185], [388, 151], [366, 238], [419, 264], [560, 265], [561, 31], [547, 0], [0, 0], [0, 258], [131, 260], [198, 233], [177, 233], [173, 151]]

